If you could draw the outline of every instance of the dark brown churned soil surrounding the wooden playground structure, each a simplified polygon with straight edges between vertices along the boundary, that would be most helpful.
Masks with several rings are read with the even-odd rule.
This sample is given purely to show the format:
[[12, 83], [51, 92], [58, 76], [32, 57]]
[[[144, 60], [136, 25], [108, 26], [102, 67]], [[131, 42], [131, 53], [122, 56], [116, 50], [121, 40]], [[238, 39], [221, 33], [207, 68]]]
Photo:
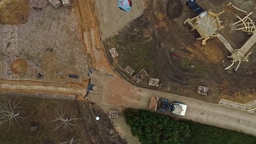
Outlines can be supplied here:
[[[155, 59], [155, 66], [148, 70], [150, 72], [148, 77], [158, 78], [162, 84], [160, 88], [150, 88], [212, 103], [218, 103], [220, 97], [240, 103], [255, 99], [256, 52], [252, 53], [249, 62], [241, 63], [237, 73], [232, 69], [225, 71], [224, 68], [231, 63], [226, 58], [230, 53], [224, 45], [217, 38], [213, 38], [208, 40], [205, 46], [202, 46], [201, 41], [196, 40], [200, 35], [196, 31], [191, 32], [190, 26], [183, 26], [183, 22], [188, 18], [195, 17], [196, 13], [189, 5], [183, 4], [181, 1], [167, 2], [159, 1], [155, 5], [149, 3], [148, 9], [144, 11], [141, 17], [133, 20], [115, 37], [106, 40], [109, 59], [112, 59], [108, 53], [109, 49], [116, 47], [119, 52], [119, 57], [110, 62], [117, 65], [125, 77], [129, 77], [127, 79], [133, 81], [132, 77], [124, 72], [124, 68], [127, 65], [132, 67], [132, 59], [134, 58], [132, 45], [139, 44], [137, 47], [142, 47], [143, 44]], [[222, 3], [224, 4], [224, 2]], [[212, 8], [213, 4], [211, 2], [201, 3], [200, 1], [200, 5], [206, 10]], [[215, 5], [216, 11], [214, 12], [219, 13], [224, 8], [223, 5]], [[225, 23], [232, 23], [233, 19], [220, 17], [220, 20], [225, 20]], [[229, 27], [229, 24], [225, 24], [225, 27]], [[149, 33], [143, 33], [145, 31]], [[231, 35], [230, 32], [225, 32], [227, 35]], [[239, 34], [236, 37], [239, 37]], [[236, 40], [236, 37], [233, 41]], [[117, 39], [121, 40], [118, 41]], [[238, 41], [241, 39], [239, 38]], [[128, 46], [129, 49], [125, 46]], [[136, 53], [136, 51], [134, 52]], [[173, 54], [179, 57], [173, 56]], [[191, 68], [191, 65], [194, 65], [194, 68]], [[223, 81], [228, 83], [225, 88], [223, 88]], [[148, 79], [143, 80], [138, 85], [149, 88]], [[207, 97], [196, 93], [198, 85], [210, 88]]]

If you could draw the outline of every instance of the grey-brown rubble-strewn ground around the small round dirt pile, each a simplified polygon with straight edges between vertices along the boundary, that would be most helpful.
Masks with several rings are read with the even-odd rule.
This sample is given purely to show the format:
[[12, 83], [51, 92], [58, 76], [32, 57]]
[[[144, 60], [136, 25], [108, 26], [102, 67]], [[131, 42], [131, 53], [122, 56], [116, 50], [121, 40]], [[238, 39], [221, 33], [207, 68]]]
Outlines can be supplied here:
[[[48, 1], [43, 1], [42, 9], [30, 8], [26, 23], [0, 23], [0, 79], [48, 82], [86, 79], [90, 58], [83, 53], [77, 28], [72, 7], [56, 9]], [[44, 75], [38, 78], [40, 72]], [[79, 78], [68, 79], [69, 74]]]

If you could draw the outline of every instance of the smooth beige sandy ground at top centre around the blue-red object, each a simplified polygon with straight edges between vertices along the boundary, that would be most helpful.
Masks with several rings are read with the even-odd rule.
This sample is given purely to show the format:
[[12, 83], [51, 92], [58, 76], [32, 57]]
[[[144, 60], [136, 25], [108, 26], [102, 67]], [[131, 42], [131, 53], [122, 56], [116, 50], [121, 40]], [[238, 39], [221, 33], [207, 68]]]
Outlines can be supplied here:
[[145, 8], [143, 1], [133, 0], [132, 9], [127, 12], [120, 10], [117, 6], [117, 2], [118, 1], [115, 0], [96, 0], [103, 40], [115, 35], [125, 27], [127, 23], [141, 16]]

